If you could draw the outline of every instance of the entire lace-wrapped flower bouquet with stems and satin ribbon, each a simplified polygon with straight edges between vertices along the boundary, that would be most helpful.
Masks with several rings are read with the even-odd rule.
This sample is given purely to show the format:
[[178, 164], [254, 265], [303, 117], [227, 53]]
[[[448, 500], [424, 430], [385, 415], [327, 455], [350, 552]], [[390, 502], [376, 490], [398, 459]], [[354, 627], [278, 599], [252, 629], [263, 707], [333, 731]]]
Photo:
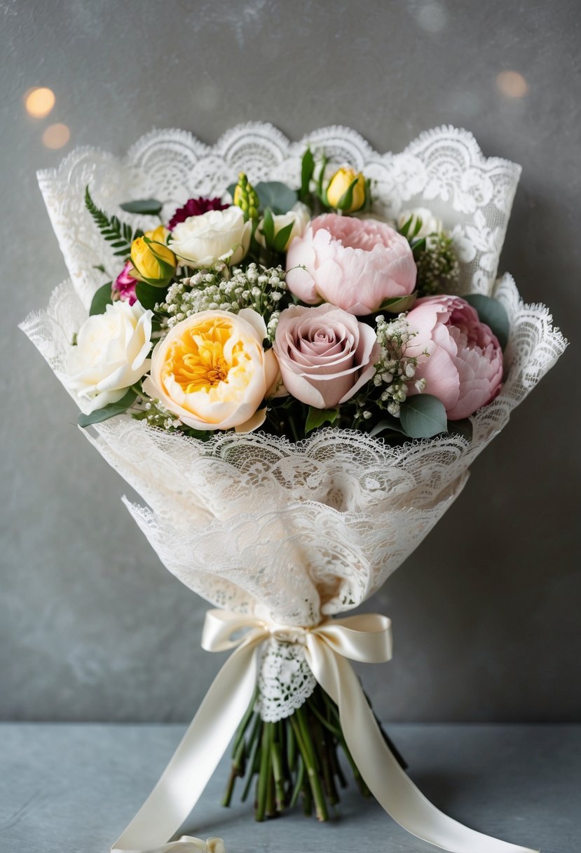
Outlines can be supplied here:
[[389, 620], [340, 615], [566, 345], [496, 278], [519, 173], [452, 128], [379, 155], [354, 131], [244, 125], [39, 176], [72, 278], [22, 328], [147, 502], [125, 501], [164, 565], [215, 606], [204, 647], [235, 649], [115, 850], [170, 850], [232, 738], [225, 804], [239, 780], [259, 821], [299, 802], [325, 821], [343, 751], [420, 838], [525, 850], [413, 786], [348, 664], [389, 659]]

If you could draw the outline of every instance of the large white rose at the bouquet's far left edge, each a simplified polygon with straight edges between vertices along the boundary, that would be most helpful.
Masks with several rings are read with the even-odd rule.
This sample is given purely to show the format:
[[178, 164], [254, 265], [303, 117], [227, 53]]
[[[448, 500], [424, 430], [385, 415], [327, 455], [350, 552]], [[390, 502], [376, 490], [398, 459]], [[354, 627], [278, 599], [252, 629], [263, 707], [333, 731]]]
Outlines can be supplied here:
[[147, 373], [152, 316], [139, 302], [119, 300], [83, 322], [66, 357], [65, 381], [86, 415], [117, 403]]

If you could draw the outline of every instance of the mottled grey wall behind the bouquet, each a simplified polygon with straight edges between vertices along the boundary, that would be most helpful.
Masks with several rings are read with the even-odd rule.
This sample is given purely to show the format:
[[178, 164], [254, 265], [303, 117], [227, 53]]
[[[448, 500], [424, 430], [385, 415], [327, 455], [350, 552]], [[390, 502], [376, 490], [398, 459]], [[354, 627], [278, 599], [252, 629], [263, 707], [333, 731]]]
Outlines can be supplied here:
[[[391, 719], [579, 717], [580, 20], [576, 0], [0, 2], [0, 718], [185, 720], [217, 669], [204, 602], [152, 553], [15, 327], [66, 277], [37, 168], [76, 145], [124, 154], [152, 126], [214, 142], [249, 119], [297, 138], [350, 125], [380, 150], [451, 123], [523, 165], [500, 269], [573, 345], [370, 602], [394, 618], [395, 658], [365, 685]], [[498, 90], [507, 69], [525, 97]], [[55, 90], [48, 119], [26, 115], [34, 85]], [[53, 122], [71, 129], [57, 152], [40, 138]]]

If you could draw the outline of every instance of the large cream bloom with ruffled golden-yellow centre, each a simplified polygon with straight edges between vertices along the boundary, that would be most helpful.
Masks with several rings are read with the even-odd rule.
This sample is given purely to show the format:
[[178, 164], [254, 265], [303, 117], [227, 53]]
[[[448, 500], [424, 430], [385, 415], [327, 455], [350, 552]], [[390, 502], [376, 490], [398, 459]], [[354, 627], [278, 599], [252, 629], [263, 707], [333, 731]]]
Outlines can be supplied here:
[[144, 391], [187, 427], [251, 432], [264, 422], [261, 403], [279, 376], [273, 351], [262, 348], [266, 336], [251, 308], [199, 311], [156, 345]]

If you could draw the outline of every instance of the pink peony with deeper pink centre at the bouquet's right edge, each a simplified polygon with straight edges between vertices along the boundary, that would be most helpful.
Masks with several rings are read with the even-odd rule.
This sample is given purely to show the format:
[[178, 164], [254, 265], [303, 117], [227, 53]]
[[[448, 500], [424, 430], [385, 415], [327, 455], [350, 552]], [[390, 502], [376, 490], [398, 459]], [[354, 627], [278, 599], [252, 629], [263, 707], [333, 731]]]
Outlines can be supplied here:
[[[429, 296], [417, 300], [407, 322], [417, 332], [406, 347], [406, 356], [419, 357], [414, 379], [426, 380], [425, 392], [444, 403], [450, 421], [474, 415], [497, 396], [503, 351], [472, 305], [457, 296]], [[416, 392], [410, 383], [408, 394]]]

